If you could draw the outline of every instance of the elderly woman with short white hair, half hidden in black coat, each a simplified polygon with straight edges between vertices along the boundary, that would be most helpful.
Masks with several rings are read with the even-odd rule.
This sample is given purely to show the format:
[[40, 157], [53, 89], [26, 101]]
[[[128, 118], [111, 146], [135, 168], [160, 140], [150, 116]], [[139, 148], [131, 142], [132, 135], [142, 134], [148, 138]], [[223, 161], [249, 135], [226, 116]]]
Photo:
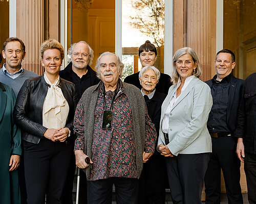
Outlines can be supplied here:
[[[145, 66], [139, 72], [141, 93], [145, 99], [148, 115], [155, 124], [157, 135], [159, 135], [161, 106], [166, 97], [166, 94], [156, 91], [159, 78], [160, 71], [154, 66]], [[165, 203], [165, 175], [164, 158], [155, 150], [154, 155], [143, 165], [138, 203]]]

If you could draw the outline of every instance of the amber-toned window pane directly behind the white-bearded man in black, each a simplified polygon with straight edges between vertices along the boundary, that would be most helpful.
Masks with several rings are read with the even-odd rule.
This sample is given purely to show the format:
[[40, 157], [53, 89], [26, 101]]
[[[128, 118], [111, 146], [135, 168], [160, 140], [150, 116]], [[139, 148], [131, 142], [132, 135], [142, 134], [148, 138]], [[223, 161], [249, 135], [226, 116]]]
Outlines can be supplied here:
[[68, 46], [86, 41], [94, 50], [94, 69], [100, 54], [115, 52], [115, 0], [69, 0], [68, 5]]

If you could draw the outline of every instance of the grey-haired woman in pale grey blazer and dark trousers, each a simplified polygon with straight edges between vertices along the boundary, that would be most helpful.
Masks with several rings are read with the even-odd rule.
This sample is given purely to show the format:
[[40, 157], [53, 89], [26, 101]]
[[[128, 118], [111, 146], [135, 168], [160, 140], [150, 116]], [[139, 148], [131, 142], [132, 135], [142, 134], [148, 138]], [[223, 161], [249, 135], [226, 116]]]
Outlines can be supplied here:
[[195, 51], [189, 47], [177, 50], [173, 86], [162, 105], [158, 139], [173, 203], [201, 203], [211, 152], [206, 123], [212, 106], [210, 88], [199, 79], [201, 74]]

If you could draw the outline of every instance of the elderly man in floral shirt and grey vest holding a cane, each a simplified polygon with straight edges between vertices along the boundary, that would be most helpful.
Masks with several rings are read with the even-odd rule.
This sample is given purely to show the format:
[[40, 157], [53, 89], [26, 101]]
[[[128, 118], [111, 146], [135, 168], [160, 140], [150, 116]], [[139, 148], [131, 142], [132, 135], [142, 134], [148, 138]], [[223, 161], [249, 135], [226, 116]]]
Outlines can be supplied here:
[[102, 82], [83, 93], [75, 112], [76, 165], [86, 171], [90, 204], [111, 203], [113, 184], [117, 203], [137, 203], [138, 178], [154, 152], [156, 129], [140, 90], [119, 79], [119, 57], [101, 54], [96, 69]]

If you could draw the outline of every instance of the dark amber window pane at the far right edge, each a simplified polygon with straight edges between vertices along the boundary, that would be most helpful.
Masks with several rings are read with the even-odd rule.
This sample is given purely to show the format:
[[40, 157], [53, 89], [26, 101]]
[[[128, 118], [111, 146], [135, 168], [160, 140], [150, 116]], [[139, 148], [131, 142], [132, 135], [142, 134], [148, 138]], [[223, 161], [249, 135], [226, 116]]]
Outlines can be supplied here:
[[[224, 1], [224, 43], [236, 56], [234, 75], [246, 79], [256, 71], [255, 1]], [[218, 50], [217, 50], [218, 51]]]

